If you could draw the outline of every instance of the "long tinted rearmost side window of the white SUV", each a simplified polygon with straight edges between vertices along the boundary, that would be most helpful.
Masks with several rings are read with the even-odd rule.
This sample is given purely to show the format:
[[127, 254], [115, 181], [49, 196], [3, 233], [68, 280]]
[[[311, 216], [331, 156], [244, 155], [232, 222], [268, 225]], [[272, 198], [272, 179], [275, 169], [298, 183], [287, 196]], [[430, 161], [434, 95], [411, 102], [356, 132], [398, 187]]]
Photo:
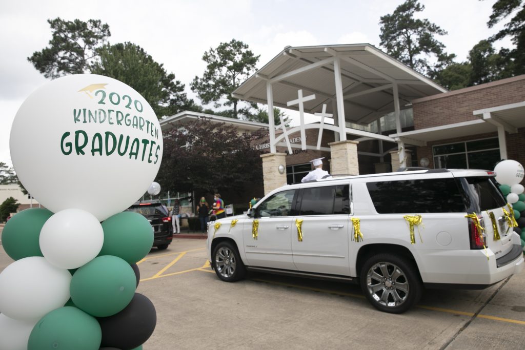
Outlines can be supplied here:
[[380, 214], [464, 213], [462, 191], [453, 178], [366, 184]]

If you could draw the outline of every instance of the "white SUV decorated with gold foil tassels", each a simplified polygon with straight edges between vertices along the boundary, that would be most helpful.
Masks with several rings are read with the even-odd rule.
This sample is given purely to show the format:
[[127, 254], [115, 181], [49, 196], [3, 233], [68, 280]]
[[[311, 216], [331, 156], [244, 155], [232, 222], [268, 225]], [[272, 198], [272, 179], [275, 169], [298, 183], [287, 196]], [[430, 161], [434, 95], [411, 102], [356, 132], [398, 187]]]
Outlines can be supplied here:
[[246, 270], [351, 281], [401, 313], [423, 286], [481, 289], [523, 269], [494, 177], [431, 169], [283, 186], [247, 215], [211, 222], [208, 258], [223, 281]]

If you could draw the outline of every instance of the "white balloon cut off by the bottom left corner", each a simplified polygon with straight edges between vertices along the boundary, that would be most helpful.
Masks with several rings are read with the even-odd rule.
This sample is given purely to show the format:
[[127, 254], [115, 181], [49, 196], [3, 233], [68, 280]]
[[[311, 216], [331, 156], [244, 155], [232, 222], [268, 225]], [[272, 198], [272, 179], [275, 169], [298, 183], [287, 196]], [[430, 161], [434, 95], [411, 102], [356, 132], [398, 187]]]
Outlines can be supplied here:
[[37, 322], [15, 320], [0, 314], [0, 349], [27, 350], [29, 334]]

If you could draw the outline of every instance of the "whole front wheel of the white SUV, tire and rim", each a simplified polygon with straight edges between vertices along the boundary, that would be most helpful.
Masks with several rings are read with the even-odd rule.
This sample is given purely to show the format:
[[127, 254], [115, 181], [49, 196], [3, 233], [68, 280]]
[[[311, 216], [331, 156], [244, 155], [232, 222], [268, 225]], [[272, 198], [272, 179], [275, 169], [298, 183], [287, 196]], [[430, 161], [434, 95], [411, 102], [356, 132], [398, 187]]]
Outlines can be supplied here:
[[214, 270], [225, 282], [241, 280], [246, 275], [246, 268], [240, 259], [239, 251], [232, 242], [219, 242], [213, 251]]

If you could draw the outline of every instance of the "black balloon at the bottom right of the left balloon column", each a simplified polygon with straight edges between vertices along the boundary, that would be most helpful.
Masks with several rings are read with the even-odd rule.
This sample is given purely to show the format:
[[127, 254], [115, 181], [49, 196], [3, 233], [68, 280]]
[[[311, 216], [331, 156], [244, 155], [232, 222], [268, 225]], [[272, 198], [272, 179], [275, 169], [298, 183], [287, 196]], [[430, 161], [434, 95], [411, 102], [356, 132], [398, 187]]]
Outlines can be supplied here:
[[155, 306], [144, 295], [135, 293], [124, 310], [109, 317], [98, 317], [102, 329], [101, 347], [133, 349], [144, 344], [155, 330]]

